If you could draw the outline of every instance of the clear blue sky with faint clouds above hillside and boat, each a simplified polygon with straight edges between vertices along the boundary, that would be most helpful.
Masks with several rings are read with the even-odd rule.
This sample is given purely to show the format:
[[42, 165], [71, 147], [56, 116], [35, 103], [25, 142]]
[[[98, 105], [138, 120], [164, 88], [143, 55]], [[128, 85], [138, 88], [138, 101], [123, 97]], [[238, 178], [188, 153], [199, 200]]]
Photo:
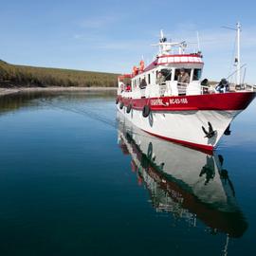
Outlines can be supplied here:
[[159, 31], [204, 56], [204, 78], [228, 77], [242, 24], [246, 82], [256, 83], [256, 1], [0, 0], [0, 59], [10, 64], [129, 73], [152, 62]]

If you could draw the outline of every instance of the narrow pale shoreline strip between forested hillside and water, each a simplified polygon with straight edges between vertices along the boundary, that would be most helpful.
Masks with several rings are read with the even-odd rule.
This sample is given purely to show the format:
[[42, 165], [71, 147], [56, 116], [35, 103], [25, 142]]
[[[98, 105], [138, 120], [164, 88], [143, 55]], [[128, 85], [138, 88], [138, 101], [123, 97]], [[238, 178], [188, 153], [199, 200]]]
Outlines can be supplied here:
[[9, 94], [16, 94], [20, 92], [88, 92], [88, 91], [116, 91], [118, 87], [14, 87], [14, 88], [1, 88], [0, 97]]

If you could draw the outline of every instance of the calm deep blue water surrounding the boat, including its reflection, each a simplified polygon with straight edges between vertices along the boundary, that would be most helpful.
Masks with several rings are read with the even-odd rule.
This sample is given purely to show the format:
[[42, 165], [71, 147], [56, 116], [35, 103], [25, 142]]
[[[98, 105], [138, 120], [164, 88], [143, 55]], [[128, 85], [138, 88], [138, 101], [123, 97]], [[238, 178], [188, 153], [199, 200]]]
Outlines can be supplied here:
[[116, 122], [114, 96], [0, 99], [0, 255], [256, 255], [256, 101], [215, 155]]

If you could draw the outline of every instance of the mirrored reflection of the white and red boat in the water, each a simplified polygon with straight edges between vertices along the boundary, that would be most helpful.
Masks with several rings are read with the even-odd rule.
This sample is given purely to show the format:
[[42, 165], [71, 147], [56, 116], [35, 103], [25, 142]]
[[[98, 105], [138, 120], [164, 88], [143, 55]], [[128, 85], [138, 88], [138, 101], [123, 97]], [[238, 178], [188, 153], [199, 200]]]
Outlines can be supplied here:
[[156, 211], [172, 212], [192, 226], [200, 219], [214, 233], [243, 235], [247, 222], [221, 155], [151, 137], [122, 116], [118, 118], [119, 146], [132, 156], [132, 170], [150, 192]]

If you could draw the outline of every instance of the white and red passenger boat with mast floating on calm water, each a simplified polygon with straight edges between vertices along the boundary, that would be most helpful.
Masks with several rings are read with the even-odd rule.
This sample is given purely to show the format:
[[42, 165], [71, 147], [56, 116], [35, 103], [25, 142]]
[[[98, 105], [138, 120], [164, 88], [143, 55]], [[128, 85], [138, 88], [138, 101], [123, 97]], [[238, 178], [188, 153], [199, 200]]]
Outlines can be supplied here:
[[254, 86], [241, 82], [239, 24], [236, 30], [236, 84], [220, 84], [220, 90], [210, 86], [201, 79], [201, 52], [185, 53], [185, 42], [167, 42], [161, 31], [155, 60], [145, 68], [141, 61], [132, 74], [119, 76], [119, 112], [155, 137], [212, 151], [224, 134], [229, 135], [232, 119], [255, 98]]

